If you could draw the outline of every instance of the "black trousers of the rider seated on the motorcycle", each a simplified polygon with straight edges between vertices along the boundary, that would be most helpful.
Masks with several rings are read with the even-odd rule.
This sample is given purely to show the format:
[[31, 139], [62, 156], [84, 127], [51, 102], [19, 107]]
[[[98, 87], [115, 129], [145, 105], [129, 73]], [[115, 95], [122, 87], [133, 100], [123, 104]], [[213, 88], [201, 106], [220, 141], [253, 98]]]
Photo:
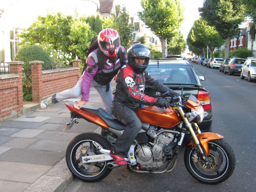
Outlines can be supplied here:
[[126, 126], [122, 135], [117, 138], [113, 150], [118, 155], [126, 157], [132, 142], [142, 128], [142, 122], [134, 110], [125, 103], [113, 102], [111, 110], [114, 117]]

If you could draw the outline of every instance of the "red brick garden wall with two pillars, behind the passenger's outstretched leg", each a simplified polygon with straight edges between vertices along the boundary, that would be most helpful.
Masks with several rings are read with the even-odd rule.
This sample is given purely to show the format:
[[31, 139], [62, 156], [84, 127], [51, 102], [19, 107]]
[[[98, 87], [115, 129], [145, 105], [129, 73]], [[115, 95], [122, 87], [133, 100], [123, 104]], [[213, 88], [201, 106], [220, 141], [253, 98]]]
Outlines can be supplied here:
[[32, 99], [40, 103], [56, 92], [70, 89], [80, 78], [80, 61], [73, 60], [73, 67], [42, 71], [43, 61], [30, 61], [32, 74]]

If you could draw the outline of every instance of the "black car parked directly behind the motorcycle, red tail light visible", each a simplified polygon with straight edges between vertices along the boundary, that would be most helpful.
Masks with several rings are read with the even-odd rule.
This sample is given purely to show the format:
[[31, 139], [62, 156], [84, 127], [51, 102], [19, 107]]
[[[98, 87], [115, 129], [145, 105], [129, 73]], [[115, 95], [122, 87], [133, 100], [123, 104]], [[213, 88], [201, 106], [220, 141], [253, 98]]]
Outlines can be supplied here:
[[[189, 97], [190, 94], [195, 95], [205, 111], [204, 120], [199, 124], [199, 128], [202, 132], [211, 132], [211, 99], [208, 90], [201, 83], [205, 80], [203, 75], [198, 75], [195, 68], [186, 60], [153, 60], [149, 62], [146, 70], [151, 77], [184, 97]], [[161, 97], [159, 92], [153, 91], [149, 87], [145, 87], [145, 94]]]

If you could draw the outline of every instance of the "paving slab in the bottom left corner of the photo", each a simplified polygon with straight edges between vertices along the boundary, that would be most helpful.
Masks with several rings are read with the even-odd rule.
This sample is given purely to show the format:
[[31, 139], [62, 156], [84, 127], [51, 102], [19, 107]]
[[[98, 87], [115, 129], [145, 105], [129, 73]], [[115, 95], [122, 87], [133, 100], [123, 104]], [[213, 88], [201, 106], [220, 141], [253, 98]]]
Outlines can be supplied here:
[[0, 191], [23, 192], [29, 185], [28, 183], [0, 180]]

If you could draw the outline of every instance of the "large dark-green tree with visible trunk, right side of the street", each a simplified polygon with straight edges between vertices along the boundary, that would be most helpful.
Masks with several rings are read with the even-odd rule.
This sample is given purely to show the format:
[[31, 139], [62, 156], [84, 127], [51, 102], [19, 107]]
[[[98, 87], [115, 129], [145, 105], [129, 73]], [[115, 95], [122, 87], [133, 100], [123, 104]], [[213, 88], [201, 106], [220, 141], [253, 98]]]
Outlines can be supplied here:
[[198, 10], [200, 16], [215, 26], [225, 39], [225, 58], [228, 58], [230, 39], [238, 33], [238, 25], [245, 20], [245, 6], [240, 0], [204, 0], [203, 7]]

